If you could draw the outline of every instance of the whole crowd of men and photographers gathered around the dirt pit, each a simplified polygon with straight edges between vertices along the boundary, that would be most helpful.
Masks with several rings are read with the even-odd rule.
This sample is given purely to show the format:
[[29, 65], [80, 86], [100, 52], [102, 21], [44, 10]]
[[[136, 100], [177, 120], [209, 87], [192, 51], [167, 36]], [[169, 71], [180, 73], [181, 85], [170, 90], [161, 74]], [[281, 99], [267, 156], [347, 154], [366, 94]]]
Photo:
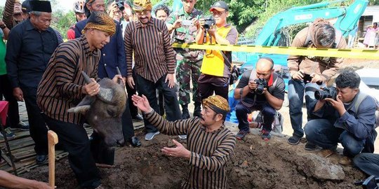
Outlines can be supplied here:
[[[274, 116], [283, 106], [285, 83], [269, 57], [261, 57], [255, 69], [245, 71], [234, 90], [234, 98], [239, 100], [235, 107], [239, 132], [232, 134], [224, 125], [230, 112], [232, 52], [172, 46], [237, 43], [239, 33], [227, 22], [227, 3], [212, 4], [211, 25], [205, 14], [194, 8], [196, 3], [182, 0], [182, 8], [171, 13], [164, 5], [153, 10], [149, 0], [107, 4], [104, 0], [79, 0], [74, 3], [77, 23], [69, 28], [68, 41], [63, 43], [59, 32], [50, 27], [50, 1], [7, 0], [0, 22], [0, 34], [7, 40], [6, 45], [0, 43], [0, 97], [4, 95], [10, 102], [7, 137], [14, 137], [11, 130], [29, 130], [36, 163], [41, 165], [47, 159], [47, 131], [53, 130], [69, 153], [69, 165], [79, 185], [101, 188], [98, 167], [112, 167], [114, 148], [109, 149], [97, 131], [88, 138], [85, 117], [67, 110], [86, 95], [98, 95], [100, 79], [123, 80], [128, 93], [121, 118], [124, 141], [133, 147], [142, 145], [135, 137], [133, 121], [144, 122], [146, 141], [160, 133], [187, 139], [187, 148], [173, 140], [175, 148], [162, 149], [166, 155], [188, 160], [190, 170], [182, 188], [227, 188], [225, 165], [237, 139], [245, 139], [251, 130], [248, 113], [262, 111], [261, 136], [270, 141]], [[292, 44], [314, 48], [346, 45], [338, 30], [322, 19], [302, 29]], [[315, 94], [330, 92], [326, 83], [342, 64], [343, 59], [335, 57], [288, 57], [293, 127], [288, 143], [296, 145], [305, 135], [305, 149], [322, 148], [325, 157], [340, 143], [344, 148], [341, 164], [354, 162], [367, 174], [379, 176], [375, 169], [378, 156], [372, 154], [377, 107], [375, 99], [359, 91], [357, 73], [342, 71], [330, 89], [334, 96]], [[93, 82], [86, 83], [81, 71]], [[308, 122], [303, 130], [304, 97]], [[192, 116], [188, 109], [191, 99]], [[20, 122], [18, 101], [25, 101], [29, 125]]]

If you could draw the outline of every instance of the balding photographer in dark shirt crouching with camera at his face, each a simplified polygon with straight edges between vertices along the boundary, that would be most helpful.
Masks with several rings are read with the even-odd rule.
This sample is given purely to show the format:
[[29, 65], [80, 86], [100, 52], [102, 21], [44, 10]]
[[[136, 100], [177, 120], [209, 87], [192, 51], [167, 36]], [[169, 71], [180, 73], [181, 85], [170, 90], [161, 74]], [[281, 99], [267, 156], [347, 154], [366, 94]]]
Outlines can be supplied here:
[[241, 99], [236, 106], [239, 122], [237, 139], [241, 140], [250, 132], [248, 113], [262, 111], [262, 139], [271, 138], [272, 122], [277, 110], [284, 102], [284, 80], [274, 72], [274, 62], [268, 57], [258, 59], [255, 70], [247, 70], [234, 90], [234, 98]]

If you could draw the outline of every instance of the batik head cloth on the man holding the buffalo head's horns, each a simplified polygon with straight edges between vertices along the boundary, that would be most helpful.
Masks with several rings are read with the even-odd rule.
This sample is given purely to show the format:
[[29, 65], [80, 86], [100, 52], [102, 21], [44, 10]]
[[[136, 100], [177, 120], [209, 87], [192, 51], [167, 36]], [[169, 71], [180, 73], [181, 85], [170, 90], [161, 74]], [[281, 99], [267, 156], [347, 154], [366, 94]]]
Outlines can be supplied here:
[[94, 11], [88, 18], [86, 27], [84, 27], [81, 33], [86, 33], [87, 29], [98, 29], [112, 36], [116, 32], [116, 24], [113, 19], [107, 15], [107, 13]]

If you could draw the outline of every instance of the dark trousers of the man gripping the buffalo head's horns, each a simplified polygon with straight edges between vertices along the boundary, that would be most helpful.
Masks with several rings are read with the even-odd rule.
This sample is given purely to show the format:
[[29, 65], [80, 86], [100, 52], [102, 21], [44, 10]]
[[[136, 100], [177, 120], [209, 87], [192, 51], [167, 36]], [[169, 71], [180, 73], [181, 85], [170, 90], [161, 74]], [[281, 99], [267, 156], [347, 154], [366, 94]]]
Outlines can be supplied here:
[[59, 144], [69, 153], [69, 165], [83, 188], [100, 185], [100, 172], [91, 155], [90, 141], [83, 125], [65, 123], [44, 116], [48, 127], [58, 135]]

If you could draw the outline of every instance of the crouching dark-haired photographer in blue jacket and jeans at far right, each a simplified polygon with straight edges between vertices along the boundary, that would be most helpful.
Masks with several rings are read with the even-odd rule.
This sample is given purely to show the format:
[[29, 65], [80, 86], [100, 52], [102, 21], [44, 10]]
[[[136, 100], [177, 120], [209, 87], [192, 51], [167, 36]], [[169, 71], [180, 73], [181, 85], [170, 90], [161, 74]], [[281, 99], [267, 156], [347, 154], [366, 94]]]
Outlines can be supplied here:
[[336, 87], [324, 88], [314, 93], [317, 100], [310, 102], [308, 113], [317, 119], [305, 124], [306, 150], [317, 146], [324, 156], [333, 154], [340, 143], [343, 146], [342, 165], [361, 152], [373, 153], [376, 104], [373, 97], [359, 92], [361, 78], [354, 71], [343, 71], [336, 79]]

